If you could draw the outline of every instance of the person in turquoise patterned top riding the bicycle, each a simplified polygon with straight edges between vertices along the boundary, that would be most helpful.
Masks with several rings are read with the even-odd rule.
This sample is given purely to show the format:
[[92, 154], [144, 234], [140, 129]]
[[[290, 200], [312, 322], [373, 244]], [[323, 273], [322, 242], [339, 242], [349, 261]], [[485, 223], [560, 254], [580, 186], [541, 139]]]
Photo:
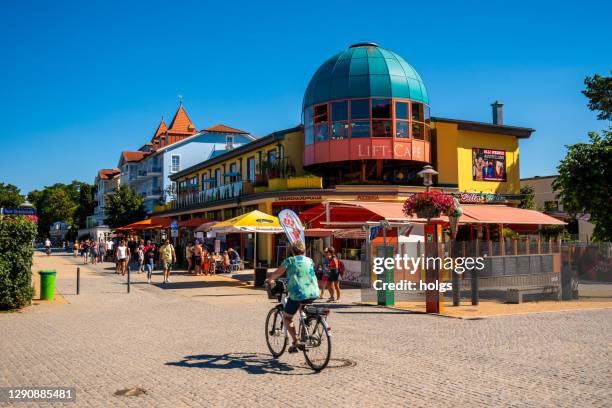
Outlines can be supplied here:
[[283, 264], [272, 273], [267, 282], [273, 286], [274, 281], [287, 272], [287, 303], [284, 308], [284, 323], [291, 335], [293, 344], [289, 347], [289, 353], [296, 353], [304, 349], [304, 344], [298, 342], [293, 316], [302, 305], [310, 304], [319, 297], [319, 285], [314, 271], [312, 259], [304, 256], [306, 246], [302, 241], [296, 241], [291, 245], [293, 256], [285, 259]]

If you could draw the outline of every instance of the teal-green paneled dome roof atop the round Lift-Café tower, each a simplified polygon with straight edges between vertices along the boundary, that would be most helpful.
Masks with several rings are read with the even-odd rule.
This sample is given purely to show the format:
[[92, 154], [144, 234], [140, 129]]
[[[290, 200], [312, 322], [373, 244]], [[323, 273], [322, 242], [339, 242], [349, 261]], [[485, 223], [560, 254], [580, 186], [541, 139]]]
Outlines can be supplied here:
[[304, 107], [335, 99], [406, 98], [429, 105], [421, 77], [396, 53], [373, 43], [351, 45], [315, 72]]

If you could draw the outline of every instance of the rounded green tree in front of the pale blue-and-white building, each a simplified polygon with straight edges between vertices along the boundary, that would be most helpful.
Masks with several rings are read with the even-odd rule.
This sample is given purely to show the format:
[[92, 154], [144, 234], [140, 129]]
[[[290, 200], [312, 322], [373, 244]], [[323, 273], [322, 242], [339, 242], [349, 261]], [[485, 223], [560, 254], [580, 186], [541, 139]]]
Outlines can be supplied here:
[[128, 186], [119, 186], [115, 194], [106, 198], [105, 204], [104, 222], [111, 228], [140, 221], [146, 215], [143, 198]]

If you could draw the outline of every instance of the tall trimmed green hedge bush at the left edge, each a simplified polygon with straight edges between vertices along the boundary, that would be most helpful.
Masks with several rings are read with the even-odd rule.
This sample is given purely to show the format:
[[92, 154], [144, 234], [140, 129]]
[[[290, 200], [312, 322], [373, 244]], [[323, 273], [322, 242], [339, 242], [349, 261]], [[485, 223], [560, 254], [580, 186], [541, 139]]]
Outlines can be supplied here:
[[25, 217], [0, 221], [0, 309], [20, 308], [32, 299], [35, 237], [36, 223]]

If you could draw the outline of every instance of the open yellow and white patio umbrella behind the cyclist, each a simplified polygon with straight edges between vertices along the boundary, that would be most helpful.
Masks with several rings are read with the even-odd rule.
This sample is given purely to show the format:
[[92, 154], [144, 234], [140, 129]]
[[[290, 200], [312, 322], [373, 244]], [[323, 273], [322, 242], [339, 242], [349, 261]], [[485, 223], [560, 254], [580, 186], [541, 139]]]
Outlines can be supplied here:
[[219, 222], [210, 230], [220, 234], [252, 232], [254, 234], [253, 267], [257, 267], [257, 233], [278, 234], [283, 232], [277, 217], [258, 210]]

